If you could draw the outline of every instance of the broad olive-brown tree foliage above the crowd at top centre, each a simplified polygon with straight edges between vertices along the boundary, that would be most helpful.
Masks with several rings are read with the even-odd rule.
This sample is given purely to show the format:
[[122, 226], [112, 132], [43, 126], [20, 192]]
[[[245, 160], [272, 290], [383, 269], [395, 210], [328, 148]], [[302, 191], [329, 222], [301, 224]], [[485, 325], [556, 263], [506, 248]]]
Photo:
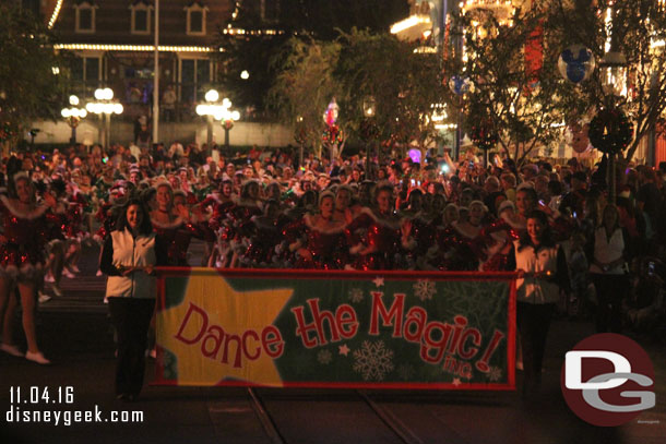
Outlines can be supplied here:
[[373, 96], [376, 122], [383, 140], [402, 146], [425, 146], [435, 137], [429, 118], [441, 100], [439, 64], [435, 55], [415, 52], [416, 45], [389, 34], [352, 29], [334, 41], [293, 38], [285, 62], [271, 89], [271, 103], [282, 121], [307, 134], [308, 145], [320, 144], [322, 113], [335, 97], [340, 121], [349, 137], [360, 134], [361, 104]]

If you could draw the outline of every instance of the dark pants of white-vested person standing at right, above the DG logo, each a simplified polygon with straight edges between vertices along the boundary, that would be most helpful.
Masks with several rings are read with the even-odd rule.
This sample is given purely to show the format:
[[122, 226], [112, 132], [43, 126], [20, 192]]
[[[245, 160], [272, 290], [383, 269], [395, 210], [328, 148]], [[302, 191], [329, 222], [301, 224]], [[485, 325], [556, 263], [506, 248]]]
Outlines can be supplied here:
[[629, 291], [626, 275], [592, 274], [596, 289], [596, 333], [622, 331], [622, 298]]

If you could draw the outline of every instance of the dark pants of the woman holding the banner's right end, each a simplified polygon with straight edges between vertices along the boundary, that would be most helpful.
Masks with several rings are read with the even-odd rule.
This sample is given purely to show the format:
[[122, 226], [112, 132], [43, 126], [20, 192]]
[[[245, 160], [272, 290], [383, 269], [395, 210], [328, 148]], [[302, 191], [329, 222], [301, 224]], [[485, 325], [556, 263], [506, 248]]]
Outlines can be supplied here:
[[518, 302], [516, 312], [525, 382], [539, 383], [555, 303]]

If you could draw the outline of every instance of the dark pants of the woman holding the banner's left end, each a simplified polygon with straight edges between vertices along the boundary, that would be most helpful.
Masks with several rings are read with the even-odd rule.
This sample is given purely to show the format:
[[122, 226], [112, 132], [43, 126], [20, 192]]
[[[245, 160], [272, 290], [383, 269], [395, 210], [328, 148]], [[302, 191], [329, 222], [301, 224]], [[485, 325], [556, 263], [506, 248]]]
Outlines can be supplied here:
[[118, 335], [116, 394], [139, 395], [145, 372], [145, 349], [155, 299], [108, 298]]

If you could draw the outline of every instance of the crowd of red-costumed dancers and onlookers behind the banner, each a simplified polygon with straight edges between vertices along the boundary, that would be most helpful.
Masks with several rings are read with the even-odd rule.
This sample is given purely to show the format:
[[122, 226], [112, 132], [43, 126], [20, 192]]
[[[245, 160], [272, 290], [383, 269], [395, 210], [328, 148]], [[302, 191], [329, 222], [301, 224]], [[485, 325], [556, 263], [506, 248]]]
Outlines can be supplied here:
[[[395, 159], [366, 175], [366, 163], [355, 157], [333, 165], [308, 159], [298, 167], [288, 153], [259, 154], [238, 163], [182, 149], [96, 147], [5, 159], [0, 309], [16, 304], [9, 298], [16, 283], [27, 308], [28, 359], [46, 361], [34, 339], [31, 295], [48, 299], [45, 280], [61, 295], [62, 276], [79, 273], [82, 245], [102, 244], [130, 197], [146, 205], [171, 266], [515, 269], [514, 242], [526, 236], [530, 214], [540, 211], [566, 245], [569, 266], [586, 257], [570, 269], [572, 289], [582, 293], [587, 285], [580, 275], [594, 265], [594, 252], [586, 250], [607, 206], [617, 209], [626, 233], [625, 260], [657, 255], [664, 238], [661, 178], [649, 167], [628, 169], [616, 206], [607, 202], [598, 171], [575, 161], [518, 170], [509, 161], [484, 168], [472, 155], [424, 166]], [[193, 238], [206, 245], [201, 264], [189, 261]], [[3, 337], [12, 328], [9, 317]]]

